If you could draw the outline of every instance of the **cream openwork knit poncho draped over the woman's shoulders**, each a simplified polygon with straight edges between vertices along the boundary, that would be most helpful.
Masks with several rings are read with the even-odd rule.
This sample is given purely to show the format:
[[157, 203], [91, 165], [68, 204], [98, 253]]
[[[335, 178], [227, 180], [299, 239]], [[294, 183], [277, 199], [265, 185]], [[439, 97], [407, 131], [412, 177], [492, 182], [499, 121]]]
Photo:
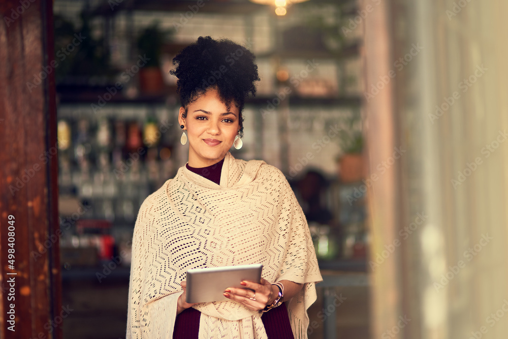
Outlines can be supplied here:
[[[189, 268], [263, 264], [274, 283], [303, 283], [286, 301], [296, 339], [322, 280], [305, 216], [284, 175], [227, 153], [220, 185], [182, 166], [141, 205], [134, 228], [128, 338], [172, 338]], [[267, 338], [261, 315], [233, 300], [199, 303], [199, 338]]]

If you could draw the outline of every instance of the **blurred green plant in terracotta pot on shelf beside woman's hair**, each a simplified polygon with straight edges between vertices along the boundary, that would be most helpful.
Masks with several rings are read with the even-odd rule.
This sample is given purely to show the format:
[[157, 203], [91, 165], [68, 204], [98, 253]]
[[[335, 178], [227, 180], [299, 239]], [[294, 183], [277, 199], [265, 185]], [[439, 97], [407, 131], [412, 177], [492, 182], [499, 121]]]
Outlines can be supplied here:
[[138, 52], [149, 59], [139, 71], [140, 91], [146, 95], [164, 93], [164, 80], [161, 73], [161, 50], [169, 42], [172, 29], [163, 30], [157, 21], [146, 27], [138, 37]]

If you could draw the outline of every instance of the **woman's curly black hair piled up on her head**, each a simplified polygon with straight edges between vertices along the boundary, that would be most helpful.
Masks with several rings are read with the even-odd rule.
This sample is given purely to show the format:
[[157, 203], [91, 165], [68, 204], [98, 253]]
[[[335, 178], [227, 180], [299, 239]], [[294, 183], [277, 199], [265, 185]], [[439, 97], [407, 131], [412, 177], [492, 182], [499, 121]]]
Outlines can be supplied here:
[[187, 115], [188, 104], [196, 101], [208, 88], [217, 88], [228, 110], [234, 103], [239, 111], [240, 137], [243, 136], [242, 110], [245, 98], [256, 95], [260, 80], [256, 56], [247, 48], [229, 40], [199, 37], [174, 58], [170, 74], [178, 80], [177, 93]]

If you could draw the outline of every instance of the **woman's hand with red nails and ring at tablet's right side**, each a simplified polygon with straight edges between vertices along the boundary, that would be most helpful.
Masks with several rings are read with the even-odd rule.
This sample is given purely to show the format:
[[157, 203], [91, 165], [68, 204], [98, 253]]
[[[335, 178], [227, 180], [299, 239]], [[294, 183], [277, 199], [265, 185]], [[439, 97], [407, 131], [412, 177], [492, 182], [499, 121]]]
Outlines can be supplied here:
[[249, 281], [242, 281], [240, 284], [247, 289], [229, 287], [224, 291], [224, 296], [244, 304], [252, 311], [263, 310], [269, 301], [273, 301], [273, 287], [265, 279], [261, 279], [261, 284]]

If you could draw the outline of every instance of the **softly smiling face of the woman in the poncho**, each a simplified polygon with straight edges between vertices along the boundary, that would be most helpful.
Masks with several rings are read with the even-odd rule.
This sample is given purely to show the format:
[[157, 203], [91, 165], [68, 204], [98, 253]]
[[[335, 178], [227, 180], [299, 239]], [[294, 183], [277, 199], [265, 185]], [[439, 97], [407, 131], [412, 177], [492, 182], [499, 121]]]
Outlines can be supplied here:
[[209, 88], [187, 107], [180, 107], [178, 120], [187, 131], [189, 166], [206, 167], [222, 160], [233, 145], [239, 129], [238, 108], [220, 101], [218, 90]]

